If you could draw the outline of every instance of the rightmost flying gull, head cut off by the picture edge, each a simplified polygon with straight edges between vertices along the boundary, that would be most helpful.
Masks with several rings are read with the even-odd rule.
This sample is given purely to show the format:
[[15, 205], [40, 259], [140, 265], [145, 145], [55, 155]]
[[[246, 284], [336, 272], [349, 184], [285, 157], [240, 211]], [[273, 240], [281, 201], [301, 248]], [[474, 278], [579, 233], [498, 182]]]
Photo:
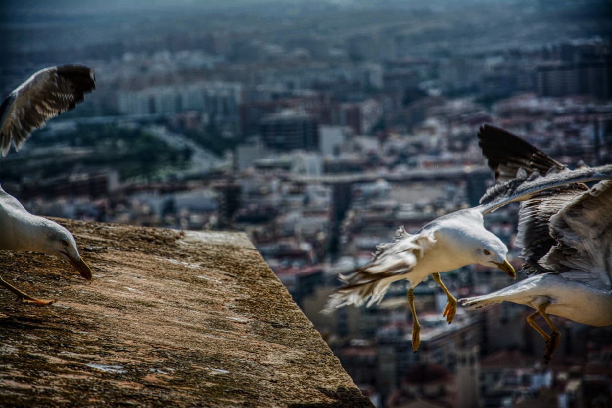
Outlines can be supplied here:
[[[571, 172], [531, 144], [506, 130], [485, 125], [479, 133], [483, 154], [496, 179], [515, 169], [530, 173]], [[504, 157], [499, 146], [512, 146]], [[542, 191], [521, 202], [516, 243], [523, 247], [522, 270], [529, 275], [496, 292], [461, 299], [470, 309], [504, 301], [528, 305], [527, 321], [546, 341], [550, 362], [561, 333], [548, 314], [593, 326], [612, 325], [612, 182], [589, 189], [570, 184]], [[542, 316], [548, 335], [534, 321]]]

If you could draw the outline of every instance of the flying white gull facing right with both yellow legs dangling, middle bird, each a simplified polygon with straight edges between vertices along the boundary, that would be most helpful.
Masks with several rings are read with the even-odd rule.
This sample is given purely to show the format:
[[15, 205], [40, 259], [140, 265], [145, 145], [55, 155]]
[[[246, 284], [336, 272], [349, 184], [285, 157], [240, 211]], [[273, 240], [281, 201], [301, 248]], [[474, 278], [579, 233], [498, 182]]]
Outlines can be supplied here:
[[[419, 347], [420, 325], [414, 309], [414, 287], [428, 275], [442, 288], [447, 305], [442, 313], [450, 324], [457, 311], [457, 299], [441, 281], [440, 273], [469, 264], [496, 266], [515, 278], [515, 271], [506, 260], [508, 249], [498, 237], [483, 225], [483, 215], [509, 202], [524, 201], [540, 191], [589, 180], [612, 179], [612, 165], [598, 168], [548, 174], [546, 177], [521, 177], [487, 190], [480, 199], [480, 206], [459, 210], [436, 218], [415, 234], [408, 234], [403, 227], [397, 231], [393, 242], [378, 246], [368, 264], [355, 272], [340, 276], [344, 286], [330, 295], [324, 313], [345, 305], [371, 306], [381, 302], [389, 284], [406, 279], [410, 283], [408, 302], [412, 313], [412, 350]], [[368, 300], [369, 299], [369, 300]]]

